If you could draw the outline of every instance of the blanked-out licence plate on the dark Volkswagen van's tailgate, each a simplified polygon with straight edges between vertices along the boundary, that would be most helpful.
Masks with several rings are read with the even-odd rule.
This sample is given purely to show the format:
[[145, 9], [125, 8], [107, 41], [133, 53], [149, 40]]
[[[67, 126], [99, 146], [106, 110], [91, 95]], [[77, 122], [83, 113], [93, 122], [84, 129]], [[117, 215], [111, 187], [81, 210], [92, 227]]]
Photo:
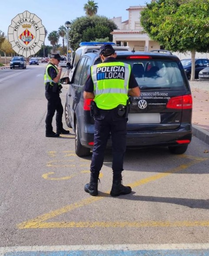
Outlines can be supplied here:
[[160, 113], [129, 113], [128, 123], [160, 123]]

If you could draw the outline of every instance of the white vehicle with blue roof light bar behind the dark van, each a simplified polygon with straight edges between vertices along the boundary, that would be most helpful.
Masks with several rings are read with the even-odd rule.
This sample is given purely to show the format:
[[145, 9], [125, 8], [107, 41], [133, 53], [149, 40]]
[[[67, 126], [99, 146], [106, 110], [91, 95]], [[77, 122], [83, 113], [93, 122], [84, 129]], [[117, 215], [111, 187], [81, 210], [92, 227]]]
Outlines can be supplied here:
[[[79, 48], [75, 51], [75, 54], [72, 59], [72, 63], [69, 71], [69, 79], [72, 79], [73, 72], [76, 68], [76, 65], [78, 61], [80, 60], [81, 56], [83, 56], [87, 52], [96, 52], [99, 53], [99, 49], [101, 45], [103, 45], [105, 42], [81, 42], [79, 44]], [[106, 42], [110, 43], [110, 42]], [[118, 46], [115, 43], [111, 43], [115, 51], [131, 51], [130, 47], [128, 46]]]

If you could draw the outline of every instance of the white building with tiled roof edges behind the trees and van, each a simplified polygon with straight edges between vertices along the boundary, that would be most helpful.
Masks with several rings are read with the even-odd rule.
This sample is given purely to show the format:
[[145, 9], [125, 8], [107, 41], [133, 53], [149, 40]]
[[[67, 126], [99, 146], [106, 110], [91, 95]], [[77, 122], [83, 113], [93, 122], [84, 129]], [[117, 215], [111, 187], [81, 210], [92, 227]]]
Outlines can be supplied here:
[[[111, 34], [113, 35], [113, 42], [122, 46], [129, 46], [135, 51], [151, 51], [160, 49], [159, 43], [152, 41], [148, 34], [143, 33], [143, 28], [140, 25], [140, 12], [145, 6], [130, 6], [126, 9], [129, 12], [129, 19], [122, 21], [122, 17], [114, 17], [114, 23], [118, 29], [114, 29]], [[191, 58], [190, 52], [183, 54], [173, 52], [179, 59]], [[196, 58], [209, 58], [209, 53], [196, 53]]]

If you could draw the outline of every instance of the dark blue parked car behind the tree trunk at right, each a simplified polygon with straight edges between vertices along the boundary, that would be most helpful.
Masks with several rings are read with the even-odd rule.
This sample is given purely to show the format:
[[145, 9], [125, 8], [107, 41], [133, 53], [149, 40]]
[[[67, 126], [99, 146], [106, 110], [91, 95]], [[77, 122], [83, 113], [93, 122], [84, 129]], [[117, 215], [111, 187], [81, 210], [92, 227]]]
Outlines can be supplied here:
[[[191, 78], [192, 59], [182, 59], [181, 63], [186, 72], [188, 79]], [[198, 74], [201, 70], [209, 65], [209, 59], [195, 59], [195, 79], [198, 79]]]

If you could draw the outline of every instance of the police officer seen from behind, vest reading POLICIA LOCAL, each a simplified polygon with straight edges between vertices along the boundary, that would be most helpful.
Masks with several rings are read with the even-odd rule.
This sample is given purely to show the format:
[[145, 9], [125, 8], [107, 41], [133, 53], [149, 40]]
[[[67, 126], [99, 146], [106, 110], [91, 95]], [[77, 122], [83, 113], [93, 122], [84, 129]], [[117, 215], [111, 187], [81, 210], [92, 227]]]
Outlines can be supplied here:
[[131, 187], [122, 185], [123, 158], [126, 149], [128, 95], [140, 95], [140, 89], [129, 64], [118, 62], [111, 44], [100, 47], [102, 63], [91, 67], [91, 75], [84, 87], [84, 99], [94, 99], [91, 108], [95, 119], [94, 147], [91, 158], [90, 182], [84, 190], [98, 195], [99, 172], [109, 135], [112, 138], [113, 197], [131, 193]]

